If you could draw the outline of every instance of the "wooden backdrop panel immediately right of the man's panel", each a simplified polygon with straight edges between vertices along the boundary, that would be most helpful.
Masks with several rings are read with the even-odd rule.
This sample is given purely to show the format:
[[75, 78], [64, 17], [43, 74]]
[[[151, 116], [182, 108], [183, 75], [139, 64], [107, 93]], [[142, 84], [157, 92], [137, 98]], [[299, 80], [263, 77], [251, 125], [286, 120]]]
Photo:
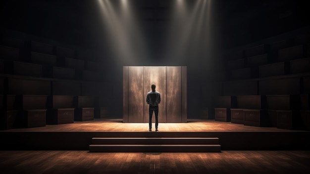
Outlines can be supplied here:
[[182, 69], [180, 66], [167, 66], [167, 122], [181, 122], [182, 115]]

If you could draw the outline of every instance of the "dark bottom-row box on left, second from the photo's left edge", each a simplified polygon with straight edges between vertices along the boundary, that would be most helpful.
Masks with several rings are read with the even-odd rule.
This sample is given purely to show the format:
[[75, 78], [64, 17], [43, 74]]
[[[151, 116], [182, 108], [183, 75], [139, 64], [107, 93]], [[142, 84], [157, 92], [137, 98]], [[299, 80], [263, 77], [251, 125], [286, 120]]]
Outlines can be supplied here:
[[46, 109], [22, 110], [17, 116], [18, 127], [43, 127], [46, 125]]

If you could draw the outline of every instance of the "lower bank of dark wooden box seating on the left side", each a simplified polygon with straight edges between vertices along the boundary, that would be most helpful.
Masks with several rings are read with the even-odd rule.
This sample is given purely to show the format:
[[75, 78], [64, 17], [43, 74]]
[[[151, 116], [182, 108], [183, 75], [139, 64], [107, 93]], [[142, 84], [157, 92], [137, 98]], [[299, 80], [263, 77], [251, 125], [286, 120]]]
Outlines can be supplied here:
[[72, 123], [107, 115], [108, 85], [24, 76], [0, 78], [1, 129]]

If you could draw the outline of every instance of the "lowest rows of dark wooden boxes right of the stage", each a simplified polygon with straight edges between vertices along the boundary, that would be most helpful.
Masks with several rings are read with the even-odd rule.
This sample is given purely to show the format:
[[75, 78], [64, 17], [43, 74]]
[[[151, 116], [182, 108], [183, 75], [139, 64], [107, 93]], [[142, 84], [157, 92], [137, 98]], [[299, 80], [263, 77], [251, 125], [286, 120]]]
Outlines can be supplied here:
[[217, 121], [310, 130], [309, 94], [219, 96], [213, 102]]

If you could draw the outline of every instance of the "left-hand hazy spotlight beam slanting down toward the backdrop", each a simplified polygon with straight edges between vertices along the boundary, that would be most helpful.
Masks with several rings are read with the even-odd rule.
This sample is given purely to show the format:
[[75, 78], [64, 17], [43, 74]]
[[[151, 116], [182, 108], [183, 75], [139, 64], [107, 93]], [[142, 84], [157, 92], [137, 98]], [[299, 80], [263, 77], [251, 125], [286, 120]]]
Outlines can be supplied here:
[[137, 62], [137, 58], [145, 54], [144, 41], [129, 1], [121, 0], [119, 6], [111, 3], [111, 0], [97, 1], [107, 30], [108, 43], [115, 54], [115, 62], [120, 65]]

